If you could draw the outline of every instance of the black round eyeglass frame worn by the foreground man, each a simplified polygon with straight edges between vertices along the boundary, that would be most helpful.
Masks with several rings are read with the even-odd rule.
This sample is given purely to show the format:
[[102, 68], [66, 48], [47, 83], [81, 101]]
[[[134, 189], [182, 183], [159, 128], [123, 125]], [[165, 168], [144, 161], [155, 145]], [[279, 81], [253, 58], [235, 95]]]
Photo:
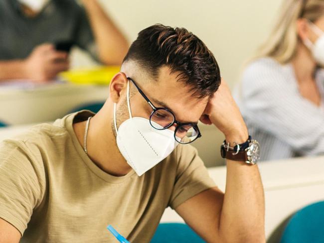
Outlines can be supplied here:
[[[179, 127], [181, 127], [181, 126], [183, 126], [183, 125], [191, 125], [192, 127], [196, 128], [197, 131], [198, 131], [198, 135], [197, 135], [197, 136], [196, 136], [192, 141], [190, 141], [190, 142], [179, 142], [179, 143], [182, 143], [182, 144], [188, 144], [188, 143], [191, 143], [191, 142], [195, 141], [197, 138], [201, 137], [201, 132], [200, 132], [199, 127], [197, 126], [197, 124], [190, 123], [190, 122], [188, 122], [188, 123], [181, 123], [181, 122], [176, 121], [176, 120], [175, 120], [175, 116], [174, 116], [174, 114], [173, 114], [171, 111], [169, 111], [168, 109], [163, 108], [163, 107], [155, 107], [155, 106], [152, 104], [152, 102], [150, 101], [150, 99], [149, 99], [149, 98], [144, 94], [144, 92], [141, 90], [141, 88], [136, 84], [136, 82], [135, 82], [132, 78], [130, 78], [130, 77], [127, 77], [127, 79], [130, 80], [130, 81], [132, 81], [132, 83], [135, 85], [135, 87], [137, 88], [137, 90], [140, 92], [140, 94], [143, 96], [143, 98], [147, 101], [147, 103], [149, 103], [149, 105], [150, 105], [151, 108], [153, 109], [153, 112], [152, 112], [151, 115], [150, 115], [150, 124], [151, 124], [151, 126], [152, 126], [153, 128], [155, 128], [155, 129], [157, 129], [157, 130], [164, 130], [164, 129], [169, 128], [170, 126], [172, 126], [172, 125], [175, 123], [175, 124], [176, 124], [176, 127], [175, 127], [175, 130], [174, 130], [174, 139], [175, 139], [177, 142], [179, 142], [179, 141], [176, 139], [175, 134], [176, 134], [176, 132], [177, 132], [177, 130], [178, 130]], [[156, 111], [159, 111], [159, 110], [167, 111], [168, 113], [170, 113], [170, 114], [173, 116], [173, 122], [171, 122], [171, 123], [168, 124], [167, 126], [164, 126], [162, 129], [158, 129], [158, 128], [156, 128], [156, 127], [153, 126], [152, 123], [151, 123], [151, 121], [152, 121], [151, 118], [152, 118], [153, 114], [154, 114]]]

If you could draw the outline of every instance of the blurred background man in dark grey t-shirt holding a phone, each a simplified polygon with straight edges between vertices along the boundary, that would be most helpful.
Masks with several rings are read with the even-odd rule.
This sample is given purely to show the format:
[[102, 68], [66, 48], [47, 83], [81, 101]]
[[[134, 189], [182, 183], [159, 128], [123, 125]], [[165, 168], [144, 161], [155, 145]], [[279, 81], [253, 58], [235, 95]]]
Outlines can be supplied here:
[[[0, 83], [46, 82], [69, 68], [70, 45], [120, 65], [128, 42], [97, 0], [1, 0]], [[63, 42], [58, 50], [55, 44]]]

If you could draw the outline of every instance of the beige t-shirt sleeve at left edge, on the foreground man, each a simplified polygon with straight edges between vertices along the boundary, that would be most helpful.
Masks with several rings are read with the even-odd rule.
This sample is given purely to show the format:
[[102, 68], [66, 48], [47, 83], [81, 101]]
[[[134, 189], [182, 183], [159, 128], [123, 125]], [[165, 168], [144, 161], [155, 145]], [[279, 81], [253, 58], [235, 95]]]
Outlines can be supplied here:
[[39, 173], [23, 142], [0, 142], [0, 218], [21, 235], [41, 201]]

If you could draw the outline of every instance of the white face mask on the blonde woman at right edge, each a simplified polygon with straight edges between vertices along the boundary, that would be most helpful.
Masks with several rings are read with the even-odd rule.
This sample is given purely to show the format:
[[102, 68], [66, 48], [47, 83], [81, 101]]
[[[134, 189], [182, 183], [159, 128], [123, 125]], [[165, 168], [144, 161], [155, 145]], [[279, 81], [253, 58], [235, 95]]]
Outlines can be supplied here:
[[315, 61], [324, 66], [324, 32], [316, 24], [310, 22], [311, 29], [319, 36], [313, 44], [310, 39], [305, 39], [305, 45], [311, 50]]

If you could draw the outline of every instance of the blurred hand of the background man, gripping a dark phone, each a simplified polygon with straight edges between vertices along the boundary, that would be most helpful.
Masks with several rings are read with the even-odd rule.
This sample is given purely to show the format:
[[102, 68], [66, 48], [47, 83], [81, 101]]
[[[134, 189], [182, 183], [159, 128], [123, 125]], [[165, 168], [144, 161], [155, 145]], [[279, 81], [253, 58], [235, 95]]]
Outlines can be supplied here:
[[69, 68], [68, 53], [55, 50], [52, 44], [42, 44], [33, 49], [24, 66], [27, 79], [46, 82]]

